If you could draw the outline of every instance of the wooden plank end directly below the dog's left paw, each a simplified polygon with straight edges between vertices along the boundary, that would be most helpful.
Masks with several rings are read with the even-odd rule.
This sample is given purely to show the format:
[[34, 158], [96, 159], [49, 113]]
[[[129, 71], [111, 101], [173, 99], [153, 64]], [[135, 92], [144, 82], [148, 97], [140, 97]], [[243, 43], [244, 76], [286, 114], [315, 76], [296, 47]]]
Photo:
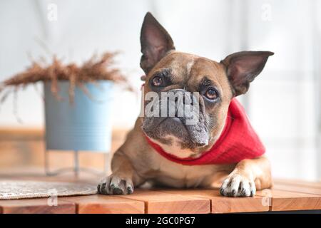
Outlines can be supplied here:
[[77, 205], [78, 214], [143, 214], [144, 202], [108, 195], [63, 197]]

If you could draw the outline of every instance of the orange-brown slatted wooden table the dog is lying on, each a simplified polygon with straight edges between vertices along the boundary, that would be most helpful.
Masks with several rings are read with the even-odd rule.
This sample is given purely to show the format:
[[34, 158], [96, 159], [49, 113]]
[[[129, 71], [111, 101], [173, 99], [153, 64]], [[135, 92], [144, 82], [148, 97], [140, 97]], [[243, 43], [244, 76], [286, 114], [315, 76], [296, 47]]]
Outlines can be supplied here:
[[[57, 181], [57, 177], [23, 178]], [[21, 177], [19, 179], [21, 180]], [[58, 180], [68, 181], [68, 178]], [[133, 195], [59, 197], [57, 206], [49, 206], [47, 199], [0, 200], [1, 213], [205, 214], [298, 210], [321, 212], [321, 182], [275, 180], [271, 190], [258, 191], [255, 197], [243, 198], [222, 197], [218, 190], [137, 189]]]

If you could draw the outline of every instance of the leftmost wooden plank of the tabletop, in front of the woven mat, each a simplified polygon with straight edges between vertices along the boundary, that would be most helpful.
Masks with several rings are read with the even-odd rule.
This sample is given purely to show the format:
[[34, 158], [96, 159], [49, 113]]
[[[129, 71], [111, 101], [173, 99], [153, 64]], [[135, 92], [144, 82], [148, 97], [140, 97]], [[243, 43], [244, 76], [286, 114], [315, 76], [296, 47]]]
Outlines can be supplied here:
[[0, 200], [0, 211], [4, 214], [75, 214], [73, 202], [58, 198], [57, 206], [50, 206], [48, 199], [6, 199]]

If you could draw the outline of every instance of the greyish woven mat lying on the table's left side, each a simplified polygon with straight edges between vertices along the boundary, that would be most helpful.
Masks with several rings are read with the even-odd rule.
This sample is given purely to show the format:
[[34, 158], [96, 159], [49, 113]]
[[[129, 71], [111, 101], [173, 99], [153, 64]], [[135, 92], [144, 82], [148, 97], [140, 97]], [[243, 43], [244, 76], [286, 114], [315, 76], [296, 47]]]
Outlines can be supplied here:
[[0, 181], [0, 199], [28, 199], [40, 197], [66, 197], [71, 195], [93, 195], [95, 185], [68, 182]]

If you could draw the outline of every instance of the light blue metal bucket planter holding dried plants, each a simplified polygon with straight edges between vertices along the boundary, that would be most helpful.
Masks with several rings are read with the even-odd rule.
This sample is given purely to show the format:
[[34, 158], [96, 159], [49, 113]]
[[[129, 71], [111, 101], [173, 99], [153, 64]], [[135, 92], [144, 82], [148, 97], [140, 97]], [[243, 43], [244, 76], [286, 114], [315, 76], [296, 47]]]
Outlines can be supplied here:
[[91, 98], [75, 88], [74, 102], [68, 97], [68, 81], [58, 81], [58, 95], [51, 93], [51, 82], [44, 83], [46, 150], [111, 150], [111, 108], [113, 83], [85, 83]]

